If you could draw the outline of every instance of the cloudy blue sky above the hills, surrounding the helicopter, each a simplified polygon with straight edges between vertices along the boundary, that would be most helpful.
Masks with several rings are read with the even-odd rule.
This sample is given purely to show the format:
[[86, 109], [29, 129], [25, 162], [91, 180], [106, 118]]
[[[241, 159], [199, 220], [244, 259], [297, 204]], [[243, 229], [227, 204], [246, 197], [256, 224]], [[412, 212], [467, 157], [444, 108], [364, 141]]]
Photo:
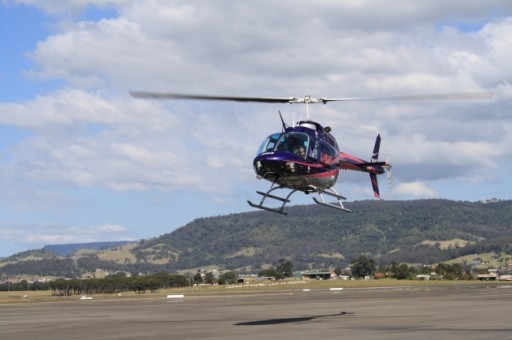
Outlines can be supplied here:
[[[130, 90], [489, 100], [312, 106], [381, 158], [385, 200], [512, 199], [512, 2], [0, 0], [0, 257], [140, 240], [253, 211], [252, 160], [303, 105], [154, 101]], [[369, 177], [335, 189], [372, 199]], [[296, 193], [292, 204], [312, 204]], [[376, 201], [375, 204], [379, 202]], [[352, 212], [357, 213], [357, 211]], [[283, 217], [285, 218], [285, 217]]]

